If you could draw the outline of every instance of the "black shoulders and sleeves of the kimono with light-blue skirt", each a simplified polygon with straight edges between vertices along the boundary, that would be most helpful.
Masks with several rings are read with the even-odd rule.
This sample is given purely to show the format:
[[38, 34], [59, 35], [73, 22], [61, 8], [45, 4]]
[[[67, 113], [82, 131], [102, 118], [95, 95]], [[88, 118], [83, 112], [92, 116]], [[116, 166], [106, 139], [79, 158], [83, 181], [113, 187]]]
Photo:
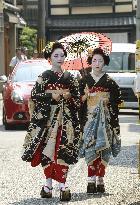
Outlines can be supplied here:
[[[110, 93], [109, 104], [108, 104], [108, 108], [111, 115], [110, 122], [112, 127], [116, 128], [117, 133], [119, 134], [120, 129], [119, 129], [119, 121], [118, 121], [118, 114], [119, 114], [118, 105], [122, 102], [122, 96], [121, 96], [120, 88], [117, 85], [117, 83], [112, 78], [110, 78], [109, 75], [106, 73], [99, 79], [98, 82], [95, 82], [95, 80], [89, 73], [80, 80], [81, 95], [84, 95], [84, 89], [86, 85], [88, 86], [89, 89], [92, 89], [93, 87], [95, 88], [95, 90], [103, 88]], [[103, 89], [101, 89], [101, 91]], [[87, 112], [87, 101], [81, 105], [81, 110], [80, 110], [81, 113], [80, 121], [82, 127], [85, 125], [86, 122], [86, 115], [87, 115], [86, 112]]]

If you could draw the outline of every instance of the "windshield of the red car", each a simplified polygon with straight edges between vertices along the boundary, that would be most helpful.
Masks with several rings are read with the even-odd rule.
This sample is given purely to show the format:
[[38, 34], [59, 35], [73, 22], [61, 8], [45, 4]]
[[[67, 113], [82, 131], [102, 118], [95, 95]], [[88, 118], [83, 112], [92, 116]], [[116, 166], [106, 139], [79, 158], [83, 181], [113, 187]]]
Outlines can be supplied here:
[[11, 81], [12, 82], [27, 82], [36, 81], [39, 74], [45, 70], [49, 70], [50, 66], [42, 63], [19, 64]]

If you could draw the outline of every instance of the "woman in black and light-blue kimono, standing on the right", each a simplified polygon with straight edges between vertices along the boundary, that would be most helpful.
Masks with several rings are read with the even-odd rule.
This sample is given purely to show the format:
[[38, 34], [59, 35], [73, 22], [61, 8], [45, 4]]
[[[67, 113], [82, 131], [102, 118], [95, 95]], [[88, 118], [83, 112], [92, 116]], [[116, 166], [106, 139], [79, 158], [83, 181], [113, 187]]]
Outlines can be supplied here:
[[83, 104], [81, 106], [81, 126], [83, 137], [80, 157], [85, 157], [88, 165], [87, 193], [105, 192], [103, 177], [111, 154], [116, 157], [120, 151], [120, 126], [118, 120], [121, 103], [119, 86], [103, 71], [109, 64], [109, 56], [97, 48], [89, 57], [92, 65], [80, 82]]

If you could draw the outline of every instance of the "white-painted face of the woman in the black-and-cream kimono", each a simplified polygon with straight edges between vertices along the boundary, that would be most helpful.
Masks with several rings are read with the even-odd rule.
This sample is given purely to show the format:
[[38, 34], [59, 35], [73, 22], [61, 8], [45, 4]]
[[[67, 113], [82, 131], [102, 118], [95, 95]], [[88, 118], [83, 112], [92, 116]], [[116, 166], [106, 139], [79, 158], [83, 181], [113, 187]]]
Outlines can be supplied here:
[[55, 67], [60, 67], [65, 60], [64, 51], [61, 48], [56, 48], [51, 54], [51, 62]]

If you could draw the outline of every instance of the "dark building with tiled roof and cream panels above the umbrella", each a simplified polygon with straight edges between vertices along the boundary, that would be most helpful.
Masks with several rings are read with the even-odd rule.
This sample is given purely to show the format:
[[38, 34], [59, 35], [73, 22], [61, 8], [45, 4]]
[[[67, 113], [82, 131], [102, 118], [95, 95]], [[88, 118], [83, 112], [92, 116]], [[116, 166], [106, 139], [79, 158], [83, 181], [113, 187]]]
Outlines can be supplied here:
[[[28, 25], [37, 28], [38, 0], [19, 2]], [[48, 41], [82, 31], [105, 33], [113, 42], [136, 40], [137, 0], [45, 0], [45, 4]]]

